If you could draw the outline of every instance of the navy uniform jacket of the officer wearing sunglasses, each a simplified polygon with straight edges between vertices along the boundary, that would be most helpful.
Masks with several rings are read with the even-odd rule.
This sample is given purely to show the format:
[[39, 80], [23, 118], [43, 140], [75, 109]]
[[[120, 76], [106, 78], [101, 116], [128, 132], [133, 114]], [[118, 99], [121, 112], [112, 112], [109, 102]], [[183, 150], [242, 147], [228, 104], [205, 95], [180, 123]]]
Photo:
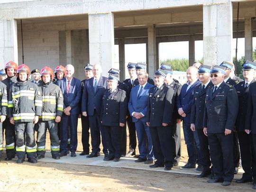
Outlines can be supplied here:
[[225, 129], [234, 130], [238, 115], [238, 95], [236, 89], [222, 82], [212, 94], [214, 86], [206, 92], [204, 122], [210, 134], [224, 133]]

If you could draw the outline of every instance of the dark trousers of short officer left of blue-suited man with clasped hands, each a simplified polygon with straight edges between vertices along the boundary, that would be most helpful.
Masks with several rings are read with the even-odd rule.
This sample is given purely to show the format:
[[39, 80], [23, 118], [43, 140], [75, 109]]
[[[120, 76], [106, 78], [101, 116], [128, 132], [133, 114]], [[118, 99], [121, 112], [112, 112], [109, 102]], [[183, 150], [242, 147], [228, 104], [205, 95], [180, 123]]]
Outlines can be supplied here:
[[109, 158], [121, 157], [121, 136], [124, 127], [103, 125], [105, 139], [109, 150]]

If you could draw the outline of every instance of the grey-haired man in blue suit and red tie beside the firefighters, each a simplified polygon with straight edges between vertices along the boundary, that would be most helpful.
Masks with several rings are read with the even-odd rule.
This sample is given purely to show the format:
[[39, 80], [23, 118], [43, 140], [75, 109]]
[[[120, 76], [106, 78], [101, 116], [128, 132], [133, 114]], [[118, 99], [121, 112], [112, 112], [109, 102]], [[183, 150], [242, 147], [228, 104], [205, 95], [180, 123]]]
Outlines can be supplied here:
[[77, 148], [77, 121], [80, 114], [81, 81], [73, 77], [73, 65], [65, 67], [65, 77], [56, 84], [61, 88], [64, 99], [63, 115], [61, 118], [61, 152], [60, 156], [67, 155], [68, 126], [70, 126], [70, 151], [71, 157], [76, 157]]

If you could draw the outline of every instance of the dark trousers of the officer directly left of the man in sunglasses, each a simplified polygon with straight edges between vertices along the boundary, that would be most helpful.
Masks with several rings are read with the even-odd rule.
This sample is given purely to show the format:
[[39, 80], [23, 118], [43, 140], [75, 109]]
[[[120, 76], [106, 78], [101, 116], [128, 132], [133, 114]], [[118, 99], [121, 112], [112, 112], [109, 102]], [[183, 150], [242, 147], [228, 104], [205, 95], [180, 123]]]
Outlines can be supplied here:
[[200, 149], [202, 154], [203, 170], [207, 171], [210, 169], [210, 165], [211, 165], [208, 138], [207, 136], [205, 136], [205, 134], [203, 134], [202, 129], [197, 129], [197, 134], [198, 134]]

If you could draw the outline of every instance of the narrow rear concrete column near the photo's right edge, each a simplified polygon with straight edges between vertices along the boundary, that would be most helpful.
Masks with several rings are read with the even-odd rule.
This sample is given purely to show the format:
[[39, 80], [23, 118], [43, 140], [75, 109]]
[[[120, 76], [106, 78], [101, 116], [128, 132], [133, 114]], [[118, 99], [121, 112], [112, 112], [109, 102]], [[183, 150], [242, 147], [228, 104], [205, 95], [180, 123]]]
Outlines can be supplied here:
[[245, 18], [245, 59], [252, 60], [252, 18]]

